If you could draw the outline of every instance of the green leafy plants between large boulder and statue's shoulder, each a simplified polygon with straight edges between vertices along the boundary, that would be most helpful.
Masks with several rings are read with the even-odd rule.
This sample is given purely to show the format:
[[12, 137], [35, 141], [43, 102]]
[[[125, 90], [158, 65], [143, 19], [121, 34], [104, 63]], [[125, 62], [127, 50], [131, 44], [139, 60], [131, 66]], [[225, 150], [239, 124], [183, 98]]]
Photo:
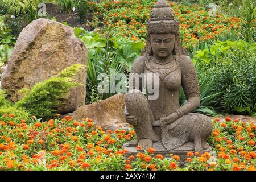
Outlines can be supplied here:
[[[127, 75], [133, 65], [134, 60], [141, 54], [144, 44], [141, 41], [130, 42], [121, 37], [115, 38], [110, 36], [106, 30], [105, 36], [96, 32], [86, 32], [82, 28], [75, 28], [75, 34], [81, 38], [89, 49], [88, 65], [87, 65], [87, 88], [86, 102], [103, 100], [117, 94], [110, 93], [116, 85], [125, 85], [127, 88]], [[108, 75], [108, 80], [102, 80], [101, 74]], [[118, 80], [110, 81], [118, 74], [123, 74]], [[125, 81], [124, 81], [125, 80]], [[99, 93], [98, 86], [102, 81], [109, 83], [109, 88], [105, 88], [106, 92]], [[97, 100], [91, 99], [92, 94], [97, 96]]]

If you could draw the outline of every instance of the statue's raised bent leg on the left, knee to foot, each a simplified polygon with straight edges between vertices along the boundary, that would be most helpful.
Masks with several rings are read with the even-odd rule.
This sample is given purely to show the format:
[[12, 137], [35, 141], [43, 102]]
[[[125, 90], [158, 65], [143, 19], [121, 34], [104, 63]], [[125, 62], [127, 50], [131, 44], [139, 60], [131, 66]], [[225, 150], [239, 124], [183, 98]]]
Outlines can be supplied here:
[[130, 115], [137, 118], [137, 125], [134, 126], [137, 141], [139, 142], [141, 139], [150, 139], [152, 142], [158, 141], [160, 137], [154, 133], [152, 127], [154, 115], [143, 93], [139, 90], [131, 90], [125, 96], [125, 105]]

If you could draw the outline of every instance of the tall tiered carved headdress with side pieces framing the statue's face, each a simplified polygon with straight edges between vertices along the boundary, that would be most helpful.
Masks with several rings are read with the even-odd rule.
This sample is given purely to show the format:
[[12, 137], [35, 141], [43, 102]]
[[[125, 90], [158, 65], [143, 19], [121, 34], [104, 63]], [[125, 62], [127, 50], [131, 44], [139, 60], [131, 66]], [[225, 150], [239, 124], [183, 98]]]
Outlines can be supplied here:
[[165, 0], [159, 0], [150, 14], [150, 20], [146, 22], [147, 26], [147, 42], [146, 42], [146, 56], [152, 55], [152, 49], [150, 44], [150, 34], [175, 34], [175, 55], [186, 55], [186, 51], [180, 44], [179, 36], [179, 20], [174, 18], [174, 10], [168, 5]]

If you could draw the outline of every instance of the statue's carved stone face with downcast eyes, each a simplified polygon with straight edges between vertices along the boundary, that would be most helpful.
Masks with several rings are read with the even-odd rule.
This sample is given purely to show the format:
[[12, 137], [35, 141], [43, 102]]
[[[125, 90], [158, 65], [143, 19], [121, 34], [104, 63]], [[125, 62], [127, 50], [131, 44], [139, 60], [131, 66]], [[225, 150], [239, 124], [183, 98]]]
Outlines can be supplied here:
[[150, 34], [150, 43], [154, 56], [164, 59], [172, 55], [175, 44], [175, 34]]

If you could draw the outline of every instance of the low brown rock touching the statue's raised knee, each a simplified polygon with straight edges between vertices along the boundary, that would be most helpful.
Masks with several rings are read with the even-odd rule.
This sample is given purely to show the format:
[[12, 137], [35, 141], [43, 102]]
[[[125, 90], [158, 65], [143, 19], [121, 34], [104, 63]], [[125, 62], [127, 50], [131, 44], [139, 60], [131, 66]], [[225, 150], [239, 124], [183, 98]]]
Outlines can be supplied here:
[[71, 117], [75, 120], [90, 118], [102, 129], [114, 130], [118, 124], [127, 124], [123, 118], [124, 96], [125, 94], [120, 93], [106, 100], [81, 106], [73, 112]]

